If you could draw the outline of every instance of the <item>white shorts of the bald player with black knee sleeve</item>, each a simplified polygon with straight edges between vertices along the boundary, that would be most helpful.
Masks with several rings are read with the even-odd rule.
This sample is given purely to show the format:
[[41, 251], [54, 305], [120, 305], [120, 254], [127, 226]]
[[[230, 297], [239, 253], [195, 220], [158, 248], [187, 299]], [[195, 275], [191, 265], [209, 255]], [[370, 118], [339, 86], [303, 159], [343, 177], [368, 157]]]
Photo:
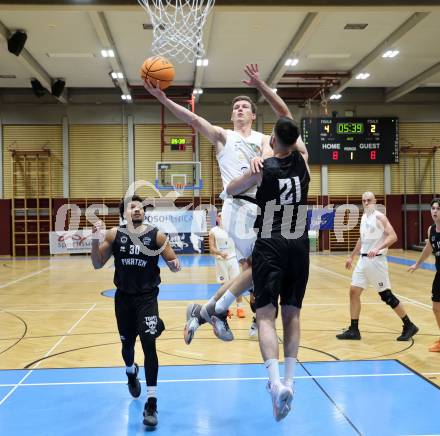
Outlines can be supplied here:
[[351, 285], [362, 289], [372, 286], [376, 288], [377, 292], [391, 289], [386, 256], [382, 255], [373, 258], [359, 257], [356, 268], [353, 271]]

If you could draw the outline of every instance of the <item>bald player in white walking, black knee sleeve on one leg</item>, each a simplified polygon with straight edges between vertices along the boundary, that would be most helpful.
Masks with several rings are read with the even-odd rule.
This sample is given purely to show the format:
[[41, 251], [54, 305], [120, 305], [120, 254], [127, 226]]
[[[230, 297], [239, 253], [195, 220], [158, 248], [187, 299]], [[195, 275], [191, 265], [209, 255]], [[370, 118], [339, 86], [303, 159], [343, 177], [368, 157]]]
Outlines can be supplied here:
[[351, 325], [344, 332], [336, 335], [338, 339], [361, 339], [359, 331], [359, 315], [361, 312], [361, 293], [368, 286], [376, 288], [381, 300], [390, 306], [403, 322], [402, 334], [398, 341], [409, 341], [418, 331], [406, 314], [403, 304], [391, 291], [388, 276], [388, 247], [397, 241], [396, 233], [388, 218], [376, 209], [376, 198], [372, 192], [362, 194], [364, 214], [361, 219], [360, 237], [353, 252], [345, 262], [351, 268], [354, 257], [359, 260], [353, 271], [350, 287]]

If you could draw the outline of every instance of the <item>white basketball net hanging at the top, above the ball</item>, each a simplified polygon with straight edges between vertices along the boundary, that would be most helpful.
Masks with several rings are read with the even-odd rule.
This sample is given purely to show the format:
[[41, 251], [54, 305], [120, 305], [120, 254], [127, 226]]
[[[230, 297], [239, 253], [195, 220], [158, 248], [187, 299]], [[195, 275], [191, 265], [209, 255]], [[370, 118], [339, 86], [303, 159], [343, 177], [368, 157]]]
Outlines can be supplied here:
[[153, 53], [177, 62], [205, 54], [203, 26], [215, 0], [138, 0], [153, 25]]

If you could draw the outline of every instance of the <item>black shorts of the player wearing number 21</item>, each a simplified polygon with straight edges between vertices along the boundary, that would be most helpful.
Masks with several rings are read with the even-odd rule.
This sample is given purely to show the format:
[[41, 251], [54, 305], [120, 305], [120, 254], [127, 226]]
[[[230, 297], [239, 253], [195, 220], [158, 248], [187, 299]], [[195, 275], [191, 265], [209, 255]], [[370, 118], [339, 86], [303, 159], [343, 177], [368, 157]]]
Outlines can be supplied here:
[[272, 303], [301, 308], [309, 279], [309, 238], [281, 235], [257, 239], [252, 253], [255, 306]]

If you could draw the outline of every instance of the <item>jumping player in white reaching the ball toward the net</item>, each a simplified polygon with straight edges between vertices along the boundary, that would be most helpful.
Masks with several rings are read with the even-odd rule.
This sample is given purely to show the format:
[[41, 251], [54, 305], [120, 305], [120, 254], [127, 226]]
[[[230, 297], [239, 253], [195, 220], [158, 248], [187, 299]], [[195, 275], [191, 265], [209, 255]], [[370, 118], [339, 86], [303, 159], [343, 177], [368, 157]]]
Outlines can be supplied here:
[[[245, 73], [248, 75], [249, 80], [244, 81], [244, 83], [256, 87], [269, 102], [278, 117], [291, 117], [284, 101], [260, 79], [257, 65], [247, 65]], [[153, 87], [147, 82], [144, 87], [177, 118], [191, 125], [215, 146], [224, 190], [233, 178], [240, 176], [250, 168], [253, 158], [272, 156], [269, 136], [252, 130], [252, 123], [256, 118], [256, 106], [249, 97], [239, 96], [233, 100], [231, 121], [234, 129], [231, 131], [212, 125], [204, 118], [168, 99], [166, 94], [159, 88], [159, 85]], [[197, 327], [203, 322], [212, 322], [211, 315], [215, 314], [222, 314], [221, 318], [217, 318], [217, 321], [225, 327], [223, 330], [225, 336], [221, 339], [233, 339], [223, 313], [227, 311], [236, 296], [241, 295], [252, 286], [249, 256], [255, 243], [255, 233], [252, 228], [257, 215], [257, 207], [252, 203], [255, 192], [254, 197], [252, 195], [240, 197], [225, 200], [223, 219], [226, 231], [234, 239], [237, 258], [241, 261], [243, 272], [234, 281], [225, 283], [215, 296], [203, 306], [203, 317], [200, 315], [202, 308], [199, 305], [188, 306], [188, 322], [184, 334], [186, 343], [191, 342]], [[225, 298], [219, 301], [223, 295], [225, 295]], [[217, 302], [220, 303], [218, 308]], [[194, 329], [188, 331], [188, 323], [195, 318], [197, 319], [197, 325]]]

